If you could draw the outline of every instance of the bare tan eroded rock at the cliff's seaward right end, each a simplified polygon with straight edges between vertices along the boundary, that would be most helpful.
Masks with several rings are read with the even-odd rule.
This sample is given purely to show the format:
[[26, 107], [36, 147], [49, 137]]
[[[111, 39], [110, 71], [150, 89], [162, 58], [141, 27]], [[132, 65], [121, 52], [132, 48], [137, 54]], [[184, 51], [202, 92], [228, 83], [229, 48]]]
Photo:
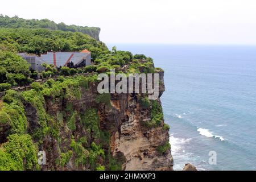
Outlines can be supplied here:
[[168, 142], [168, 130], [143, 126], [141, 121], [151, 119], [150, 111], [141, 109], [133, 97], [127, 96], [126, 100], [119, 131], [112, 135], [113, 155], [122, 152], [126, 158], [122, 166], [125, 170], [172, 170], [171, 151], [160, 154], [156, 150]]

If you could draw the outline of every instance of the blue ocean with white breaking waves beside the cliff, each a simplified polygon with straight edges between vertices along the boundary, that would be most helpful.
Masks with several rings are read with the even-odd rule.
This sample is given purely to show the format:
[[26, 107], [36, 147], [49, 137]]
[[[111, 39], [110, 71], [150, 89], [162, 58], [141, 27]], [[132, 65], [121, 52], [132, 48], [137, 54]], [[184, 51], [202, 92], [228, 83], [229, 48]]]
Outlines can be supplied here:
[[175, 170], [256, 170], [256, 46], [107, 45], [164, 69]]

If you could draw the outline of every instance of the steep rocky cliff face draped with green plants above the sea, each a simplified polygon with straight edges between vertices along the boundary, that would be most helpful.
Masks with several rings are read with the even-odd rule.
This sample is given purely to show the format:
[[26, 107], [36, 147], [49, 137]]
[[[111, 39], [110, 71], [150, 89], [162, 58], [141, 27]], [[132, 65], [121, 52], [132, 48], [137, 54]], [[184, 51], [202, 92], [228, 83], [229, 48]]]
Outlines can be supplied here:
[[[163, 72], [159, 73], [161, 95]], [[23, 137], [31, 136], [36, 146], [31, 154], [46, 152], [45, 165], [38, 166], [37, 161], [31, 160], [27, 167], [23, 160], [20, 169], [172, 170], [169, 127], [164, 124], [159, 98], [145, 99], [148, 104], [145, 105], [146, 96], [141, 94], [100, 95], [93, 76], [48, 80], [45, 84], [48, 86], [44, 89], [34, 87], [20, 94], [10, 93], [22, 102], [19, 105], [23, 105], [27, 122], [24, 131], [20, 130], [21, 126], [14, 131], [14, 123], [10, 121], [0, 123], [2, 148], [15, 140], [13, 133], [19, 133]], [[6, 96], [3, 100], [9, 105], [18, 103], [7, 101]], [[5, 107], [6, 104], [2, 104], [1, 111], [5, 111]], [[4, 115], [3, 112], [0, 115]], [[9, 158], [6, 160], [15, 163]]]

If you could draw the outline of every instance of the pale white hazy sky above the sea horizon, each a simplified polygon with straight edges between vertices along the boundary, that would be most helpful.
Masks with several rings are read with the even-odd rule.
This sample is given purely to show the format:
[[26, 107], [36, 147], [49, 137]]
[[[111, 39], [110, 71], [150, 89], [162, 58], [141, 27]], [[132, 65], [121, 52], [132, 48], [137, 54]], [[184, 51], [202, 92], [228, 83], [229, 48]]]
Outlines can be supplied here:
[[0, 14], [101, 27], [106, 43], [256, 44], [255, 0], [8, 0]]

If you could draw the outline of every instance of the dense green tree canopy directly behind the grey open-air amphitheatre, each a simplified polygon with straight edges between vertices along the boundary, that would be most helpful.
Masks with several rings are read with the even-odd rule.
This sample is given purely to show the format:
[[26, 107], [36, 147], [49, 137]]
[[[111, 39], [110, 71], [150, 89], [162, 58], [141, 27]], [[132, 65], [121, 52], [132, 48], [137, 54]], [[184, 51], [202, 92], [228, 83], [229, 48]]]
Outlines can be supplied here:
[[21, 51], [40, 55], [49, 50], [81, 51], [88, 49], [92, 52], [93, 59], [104, 52], [109, 52], [104, 43], [81, 32], [27, 27], [0, 28], [0, 37], [0, 47], [4, 50], [3, 52]]

